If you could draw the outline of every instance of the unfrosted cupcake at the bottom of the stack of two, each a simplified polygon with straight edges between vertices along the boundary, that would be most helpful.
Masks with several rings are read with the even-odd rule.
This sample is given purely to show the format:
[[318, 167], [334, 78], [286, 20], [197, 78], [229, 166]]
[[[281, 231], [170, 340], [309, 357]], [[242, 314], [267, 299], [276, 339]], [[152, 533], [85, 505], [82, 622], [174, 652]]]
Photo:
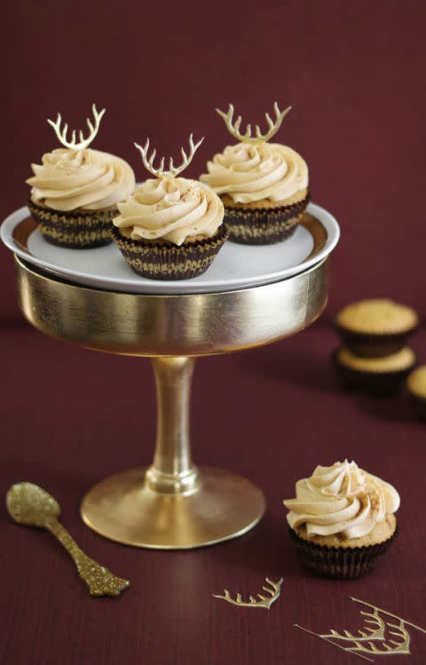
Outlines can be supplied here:
[[363, 358], [342, 346], [333, 359], [346, 388], [377, 394], [397, 392], [416, 361], [408, 346], [381, 358]]

